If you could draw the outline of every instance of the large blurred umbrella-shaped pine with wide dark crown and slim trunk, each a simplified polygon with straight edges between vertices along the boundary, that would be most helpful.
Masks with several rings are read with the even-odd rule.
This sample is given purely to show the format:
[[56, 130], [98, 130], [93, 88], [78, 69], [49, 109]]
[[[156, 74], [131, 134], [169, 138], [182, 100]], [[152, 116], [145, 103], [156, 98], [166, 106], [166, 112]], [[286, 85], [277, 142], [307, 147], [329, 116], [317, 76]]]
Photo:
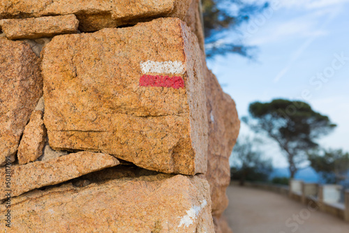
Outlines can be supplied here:
[[291, 178], [307, 159], [306, 152], [318, 146], [315, 140], [336, 127], [327, 116], [313, 111], [302, 101], [255, 102], [249, 106], [249, 113], [250, 117], [242, 120], [256, 133], [266, 133], [279, 144], [288, 160]]

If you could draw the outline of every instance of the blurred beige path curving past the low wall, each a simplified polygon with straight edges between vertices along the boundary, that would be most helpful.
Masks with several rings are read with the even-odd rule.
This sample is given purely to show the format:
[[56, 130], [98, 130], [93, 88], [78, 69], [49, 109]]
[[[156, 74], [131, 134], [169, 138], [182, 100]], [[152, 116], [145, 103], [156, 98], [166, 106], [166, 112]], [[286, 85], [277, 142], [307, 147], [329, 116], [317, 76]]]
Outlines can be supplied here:
[[349, 233], [349, 223], [265, 190], [229, 186], [225, 211], [234, 233]]

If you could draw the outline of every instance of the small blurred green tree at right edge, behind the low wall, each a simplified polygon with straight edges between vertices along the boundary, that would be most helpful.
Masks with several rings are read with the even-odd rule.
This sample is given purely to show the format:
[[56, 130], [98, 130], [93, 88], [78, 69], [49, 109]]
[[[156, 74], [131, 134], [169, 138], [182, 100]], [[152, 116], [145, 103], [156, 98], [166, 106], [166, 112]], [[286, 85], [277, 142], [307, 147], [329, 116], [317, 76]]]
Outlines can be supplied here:
[[348, 181], [349, 153], [341, 149], [318, 149], [308, 153], [311, 167], [320, 173], [327, 183]]

